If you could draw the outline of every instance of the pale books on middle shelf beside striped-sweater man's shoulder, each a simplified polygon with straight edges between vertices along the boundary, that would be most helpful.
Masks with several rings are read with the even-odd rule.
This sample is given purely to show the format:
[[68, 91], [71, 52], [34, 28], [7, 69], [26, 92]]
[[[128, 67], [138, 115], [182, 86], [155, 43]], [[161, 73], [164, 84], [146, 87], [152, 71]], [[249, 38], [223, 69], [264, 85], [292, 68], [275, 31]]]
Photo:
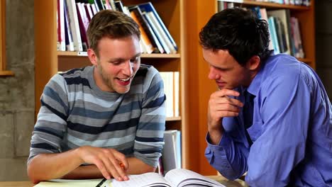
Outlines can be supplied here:
[[166, 95], [166, 117], [179, 117], [179, 72], [160, 72]]

